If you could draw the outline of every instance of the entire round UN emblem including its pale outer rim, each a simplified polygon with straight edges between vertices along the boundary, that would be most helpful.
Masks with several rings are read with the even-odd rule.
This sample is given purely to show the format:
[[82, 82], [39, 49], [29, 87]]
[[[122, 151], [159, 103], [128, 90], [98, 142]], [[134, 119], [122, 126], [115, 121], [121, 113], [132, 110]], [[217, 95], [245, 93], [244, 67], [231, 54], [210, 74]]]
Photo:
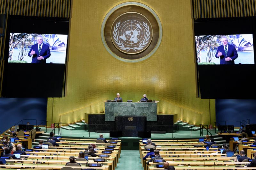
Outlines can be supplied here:
[[162, 40], [162, 25], [145, 4], [126, 2], [112, 8], [101, 25], [101, 39], [116, 59], [139, 62], [148, 59]]

